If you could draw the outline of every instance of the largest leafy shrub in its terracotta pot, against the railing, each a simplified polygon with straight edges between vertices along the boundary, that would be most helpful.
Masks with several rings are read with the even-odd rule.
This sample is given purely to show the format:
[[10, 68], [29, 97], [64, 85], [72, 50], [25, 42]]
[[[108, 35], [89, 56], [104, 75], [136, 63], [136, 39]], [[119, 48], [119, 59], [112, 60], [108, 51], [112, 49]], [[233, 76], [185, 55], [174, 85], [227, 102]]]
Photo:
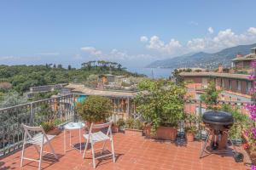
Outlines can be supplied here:
[[138, 84], [138, 89], [137, 112], [148, 121], [147, 132], [156, 139], [175, 140], [177, 123], [184, 116], [184, 84], [146, 79]]

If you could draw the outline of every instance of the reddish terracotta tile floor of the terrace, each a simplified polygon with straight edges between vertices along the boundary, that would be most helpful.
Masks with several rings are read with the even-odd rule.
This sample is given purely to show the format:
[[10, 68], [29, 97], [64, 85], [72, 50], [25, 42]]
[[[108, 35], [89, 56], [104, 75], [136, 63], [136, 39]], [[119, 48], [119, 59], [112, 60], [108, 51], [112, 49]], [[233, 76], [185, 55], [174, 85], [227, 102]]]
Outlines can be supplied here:
[[[73, 141], [78, 141], [77, 135], [73, 135]], [[44, 156], [42, 169], [93, 169], [90, 153], [83, 160], [82, 154], [78, 150], [70, 150], [63, 153], [63, 133], [58, 135], [53, 141], [55, 152], [60, 156], [59, 161], [54, 161], [52, 156]], [[250, 169], [246, 166], [248, 157], [245, 161], [236, 163], [231, 156], [206, 156], [199, 159], [201, 142], [189, 143], [186, 146], [177, 146], [171, 142], [154, 141], [153, 139], [144, 139], [142, 136], [125, 135], [124, 133], [114, 134], [114, 146], [117, 156], [116, 163], [112, 159], [96, 161], [96, 169], [102, 170], [142, 170], [142, 169], [160, 169], [160, 170], [241, 170]], [[108, 145], [108, 149], [110, 149]], [[45, 147], [45, 150], [49, 150]], [[0, 160], [0, 170], [38, 169], [38, 162], [25, 161], [24, 166], [20, 167], [20, 151]], [[33, 147], [26, 149], [26, 156], [37, 157]]]

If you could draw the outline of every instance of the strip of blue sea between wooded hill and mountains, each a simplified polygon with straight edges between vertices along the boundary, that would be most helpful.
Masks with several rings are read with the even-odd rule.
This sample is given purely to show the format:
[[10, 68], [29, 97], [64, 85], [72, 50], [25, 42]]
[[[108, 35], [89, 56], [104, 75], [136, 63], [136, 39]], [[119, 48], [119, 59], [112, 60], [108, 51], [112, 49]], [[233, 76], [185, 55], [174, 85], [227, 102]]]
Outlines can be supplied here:
[[128, 71], [137, 72], [150, 78], [169, 78], [172, 76], [173, 69], [168, 68], [127, 68]]

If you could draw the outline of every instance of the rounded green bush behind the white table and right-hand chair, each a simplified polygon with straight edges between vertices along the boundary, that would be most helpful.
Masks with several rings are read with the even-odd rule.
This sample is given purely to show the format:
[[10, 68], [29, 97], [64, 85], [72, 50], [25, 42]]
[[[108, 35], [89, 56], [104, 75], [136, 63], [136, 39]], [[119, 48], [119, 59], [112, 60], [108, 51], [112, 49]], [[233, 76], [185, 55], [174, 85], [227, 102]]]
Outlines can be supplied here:
[[78, 103], [77, 111], [87, 126], [90, 127], [90, 123], [102, 123], [106, 122], [107, 118], [112, 113], [112, 101], [102, 96], [89, 96], [82, 103]]

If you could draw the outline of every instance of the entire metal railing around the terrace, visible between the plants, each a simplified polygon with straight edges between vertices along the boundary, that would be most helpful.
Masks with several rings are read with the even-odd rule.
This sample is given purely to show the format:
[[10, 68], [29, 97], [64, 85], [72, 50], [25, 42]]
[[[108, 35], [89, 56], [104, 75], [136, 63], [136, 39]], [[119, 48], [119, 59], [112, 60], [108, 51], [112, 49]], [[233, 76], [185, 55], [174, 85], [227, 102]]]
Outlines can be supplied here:
[[[78, 121], [79, 117], [75, 111], [75, 105], [81, 96], [85, 94], [67, 94], [60, 97], [43, 99], [23, 105], [15, 105], [0, 109], [0, 157], [20, 149], [23, 140], [23, 129], [21, 123], [31, 126], [39, 126], [42, 122], [57, 120], [59, 124], [70, 121]], [[109, 117], [113, 122], [120, 118], [132, 117], [143, 121], [141, 114], [136, 112], [136, 105], [132, 98], [110, 97], [113, 99], [113, 114]], [[246, 114], [244, 107], [247, 102], [241, 101], [218, 101], [219, 105], [230, 105], [236, 107], [241, 114]], [[201, 126], [201, 116], [207, 111], [206, 105], [199, 99], [187, 100], [184, 111], [187, 114], [195, 115], [195, 120], [182, 120], [178, 122], [179, 133], [184, 133], [184, 127], [194, 126], [198, 132], [197, 138], [204, 139], [207, 135]], [[238, 126], [236, 123], [235, 127]], [[235, 128], [236, 136], [241, 136], [240, 128]]]

